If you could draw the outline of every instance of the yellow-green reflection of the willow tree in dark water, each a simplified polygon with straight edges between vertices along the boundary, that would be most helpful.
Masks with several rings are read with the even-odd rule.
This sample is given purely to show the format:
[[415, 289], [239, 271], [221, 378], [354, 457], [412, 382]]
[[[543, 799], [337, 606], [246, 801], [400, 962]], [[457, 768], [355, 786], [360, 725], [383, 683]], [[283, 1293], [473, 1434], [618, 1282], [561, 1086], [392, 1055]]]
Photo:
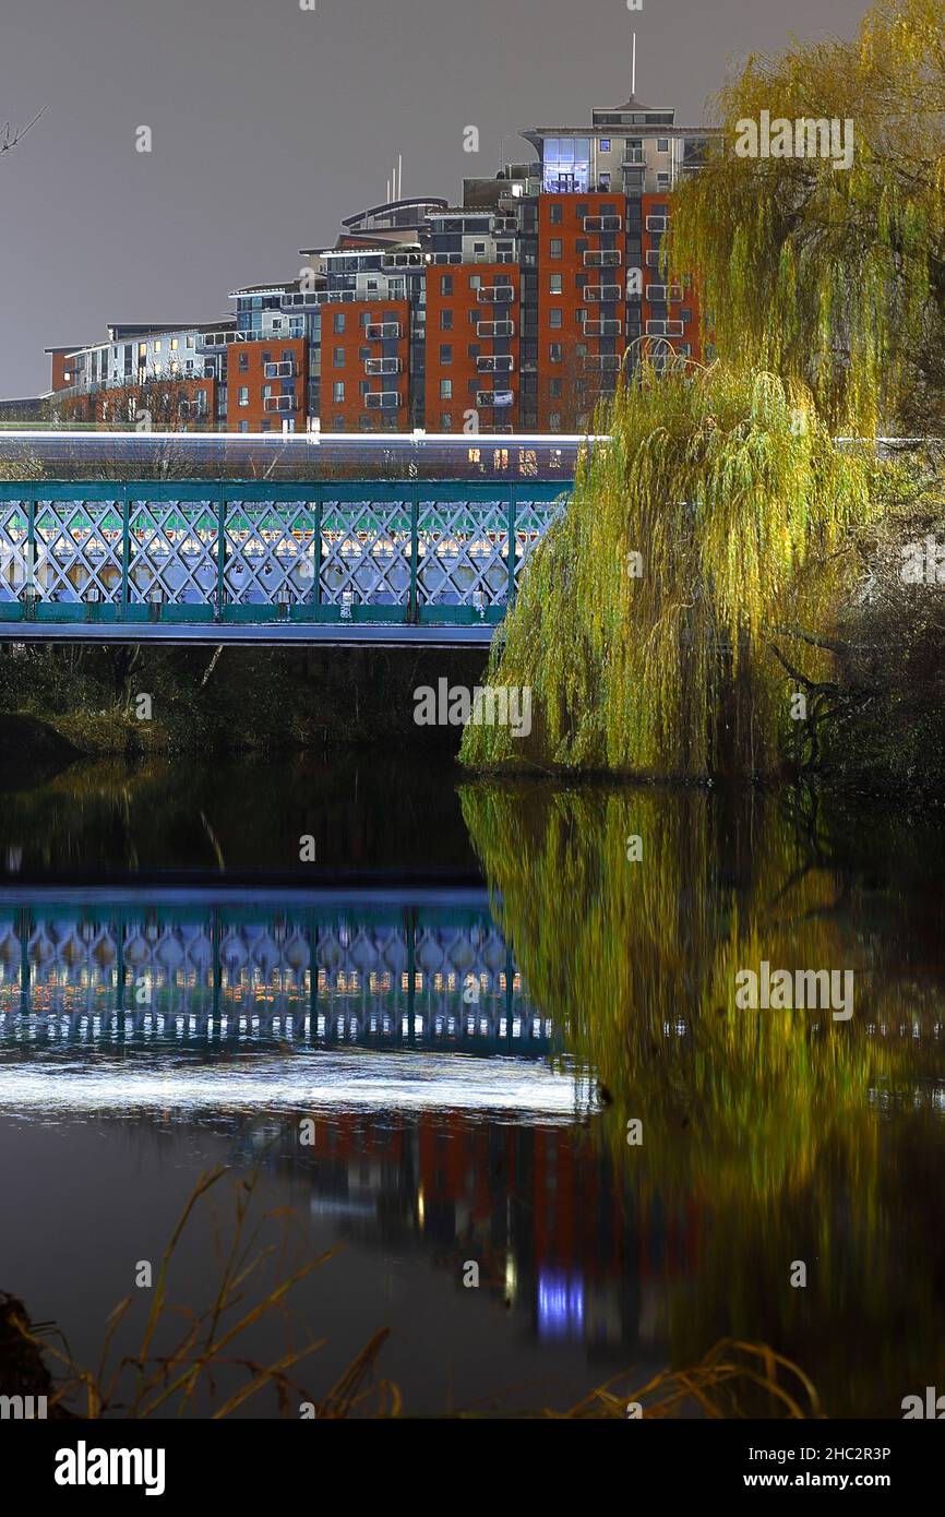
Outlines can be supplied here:
[[[898, 1185], [933, 1118], [883, 1129], [869, 1092], [912, 1103], [934, 1053], [928, 1038], [868, 1035], [874, 1021], [896, 1033], [912, 1024], [918, 998], [899, 1004], [877, 948], [836, 910], [836, 871], [810, 866], [771, 801], [529, 784], [470, 786], [463, 809], [529, 995], [611, 1095], [595, 1141], [640, 1215], [655, 1204], [699, 1218], [698, 1279], [670, 1292], [673, 1361], [725, 1330], [764, 1336], [774, 1318], [766, 1341], [813, 1374], [828, 1406], [833, 1394], [863, 1409], [884, 1356], [895, 1365], [884, 1394], [907, 1367], [928, 1371], [931, 1318], [945, 1326], [934, 1256], [940, 1268], [945, 1255]], [[626, 859], [633, 834], [639, 863]], [[852, 1021], [736, 1009], [736, 972], [763, 959], [854, 969]], [[642, 1147], [626, 1144], [628, 1118], [643, 1123]], [[890, 1185], [893, 1144], [904, 1168], [892, 1167]], [[808, 1291], [787, 1283], [793, 1259], [808, 1264]], [[890, 1302], [913, 1314], [906, 1353], [890, 1341]], [[818, 1368], [830, 1332], [836, 1353]]]

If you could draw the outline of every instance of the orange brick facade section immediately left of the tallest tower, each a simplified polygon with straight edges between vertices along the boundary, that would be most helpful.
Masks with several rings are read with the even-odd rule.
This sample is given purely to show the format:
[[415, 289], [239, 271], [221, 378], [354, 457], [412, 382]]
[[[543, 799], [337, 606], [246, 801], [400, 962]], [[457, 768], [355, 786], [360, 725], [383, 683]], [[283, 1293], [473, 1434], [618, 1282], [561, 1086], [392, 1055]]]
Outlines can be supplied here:
[[520, 337], [517, 265], [428, 265], [425, 416], [429, 432], [493, 432], [517, 426]]

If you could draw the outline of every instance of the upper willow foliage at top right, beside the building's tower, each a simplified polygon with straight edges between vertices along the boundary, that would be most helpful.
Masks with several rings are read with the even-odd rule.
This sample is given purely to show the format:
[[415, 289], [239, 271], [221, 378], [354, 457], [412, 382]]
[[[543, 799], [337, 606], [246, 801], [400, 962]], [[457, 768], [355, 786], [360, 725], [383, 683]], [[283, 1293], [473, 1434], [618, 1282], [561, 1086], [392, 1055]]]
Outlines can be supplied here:
[[[737, 156], [761, 112], [852, 124], [852, 162]], [[752, 56], [673, 196], [719, 355], [804, 379], [834, 429], [945, 429], [945, 0], [878, 0], [856, 41]], [[796, 146], [796, 133], [795, 133]]]

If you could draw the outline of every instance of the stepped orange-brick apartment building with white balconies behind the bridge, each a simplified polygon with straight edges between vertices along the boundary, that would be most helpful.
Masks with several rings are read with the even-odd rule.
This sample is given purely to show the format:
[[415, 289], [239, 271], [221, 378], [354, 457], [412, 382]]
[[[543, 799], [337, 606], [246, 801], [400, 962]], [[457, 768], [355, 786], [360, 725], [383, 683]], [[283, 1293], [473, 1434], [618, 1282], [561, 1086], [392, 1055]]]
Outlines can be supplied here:
[[466, 179], [461, 205], [359, 211], [296, 279], [231, 291], [224, 320], [47, 349], [59, 414], [133, 419], [158, 391], [174, 425], [241, 432], [575, 431], [642, 353], [702, 356], [696, 284], [660, 255], [711, 132], [631, 96], [522, 137], [532, 156]]

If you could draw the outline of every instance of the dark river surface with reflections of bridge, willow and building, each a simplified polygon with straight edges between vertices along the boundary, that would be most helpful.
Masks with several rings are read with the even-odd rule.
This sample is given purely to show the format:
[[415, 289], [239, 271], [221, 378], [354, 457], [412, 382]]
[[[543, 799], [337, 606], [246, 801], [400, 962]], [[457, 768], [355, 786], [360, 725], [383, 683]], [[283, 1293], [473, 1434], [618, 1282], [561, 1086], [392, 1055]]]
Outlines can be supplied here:
[[[212, 1302], [255, 1176], [264, 1294], [337, 1250], [240, 1347], [320, 1341], [312, 1400], [382, 1329], [364, 1385], [425, 1414], [566, 1408], [733, 1335], [898, 1417], [945, 1385], [943, 856], [936, 813], [414, 760], [6, 792], [0, 1289], [88, 1365], [130, 1296], [117, 1361], [140, 1261], [226, 1165], [168, 1300]], [[851, 971], [852, 1016], [739, 1009], [763, 960]]]

